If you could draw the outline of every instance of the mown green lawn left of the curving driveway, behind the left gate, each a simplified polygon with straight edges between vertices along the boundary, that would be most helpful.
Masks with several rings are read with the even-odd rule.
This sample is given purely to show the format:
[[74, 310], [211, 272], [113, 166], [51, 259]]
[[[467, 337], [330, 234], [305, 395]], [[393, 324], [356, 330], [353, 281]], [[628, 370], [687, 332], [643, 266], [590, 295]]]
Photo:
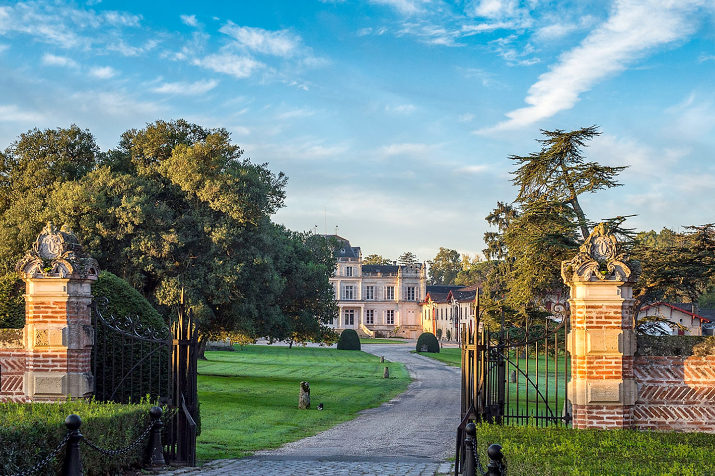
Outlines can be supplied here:
[[[241, 457], [315, 435], [410, 383], [404, 365], [354, 350], [246, 345], [206, 358], [199, 360], [199, 460]], [[310, 383], [310, 410], [297, 409], [301, 380]], [[321, 402], [325, 409], [315, 410]]]

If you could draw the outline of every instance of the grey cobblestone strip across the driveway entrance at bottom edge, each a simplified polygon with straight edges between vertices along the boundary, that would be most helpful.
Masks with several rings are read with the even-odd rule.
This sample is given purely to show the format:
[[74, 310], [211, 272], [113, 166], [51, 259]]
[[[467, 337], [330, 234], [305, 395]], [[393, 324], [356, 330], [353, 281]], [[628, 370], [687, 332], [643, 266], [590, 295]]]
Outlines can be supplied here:
[[218, 460], [200, 468], [161, 472], [159, 476], [434, 476], [450, 472], [451, 463], [399, 458], [355, 460], [275, 460], [246, 457]]

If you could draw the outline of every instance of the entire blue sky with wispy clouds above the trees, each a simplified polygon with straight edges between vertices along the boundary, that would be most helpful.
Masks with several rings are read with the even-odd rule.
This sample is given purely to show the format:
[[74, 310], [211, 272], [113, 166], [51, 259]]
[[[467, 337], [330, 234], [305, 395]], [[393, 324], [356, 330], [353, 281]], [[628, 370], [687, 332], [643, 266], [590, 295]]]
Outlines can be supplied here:
[[0, 1], [0, 147], [71, 123], [225, 127], [289, 177], [274, 217], [420, 260], [483, 248], [510, 154], [598, 124], [583, 196], [639, 229], [715, 221], [712, 0]]

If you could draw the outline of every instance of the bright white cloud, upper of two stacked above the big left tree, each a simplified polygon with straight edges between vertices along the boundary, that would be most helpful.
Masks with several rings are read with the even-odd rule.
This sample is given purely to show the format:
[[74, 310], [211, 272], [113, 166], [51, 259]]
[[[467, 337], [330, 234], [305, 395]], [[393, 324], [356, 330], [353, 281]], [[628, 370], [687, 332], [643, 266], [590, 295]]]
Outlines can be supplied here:
[[289, 58], [295, 56], [302, 49], [300, 36], [289, 30], [272, 31], [251, 28], [250, 26], [238, 26], [229, 21], [219, 31], [231, 36], [240, 45], [257, 53]]

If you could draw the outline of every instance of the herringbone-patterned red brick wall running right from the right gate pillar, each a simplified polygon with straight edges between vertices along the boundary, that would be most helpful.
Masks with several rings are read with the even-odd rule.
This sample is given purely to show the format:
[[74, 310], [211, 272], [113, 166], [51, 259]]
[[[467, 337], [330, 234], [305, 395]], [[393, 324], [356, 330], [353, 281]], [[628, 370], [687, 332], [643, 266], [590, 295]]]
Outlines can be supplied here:
[[631, 423], [650, 430], [715, 432], [715, 355], [642, 355]]

